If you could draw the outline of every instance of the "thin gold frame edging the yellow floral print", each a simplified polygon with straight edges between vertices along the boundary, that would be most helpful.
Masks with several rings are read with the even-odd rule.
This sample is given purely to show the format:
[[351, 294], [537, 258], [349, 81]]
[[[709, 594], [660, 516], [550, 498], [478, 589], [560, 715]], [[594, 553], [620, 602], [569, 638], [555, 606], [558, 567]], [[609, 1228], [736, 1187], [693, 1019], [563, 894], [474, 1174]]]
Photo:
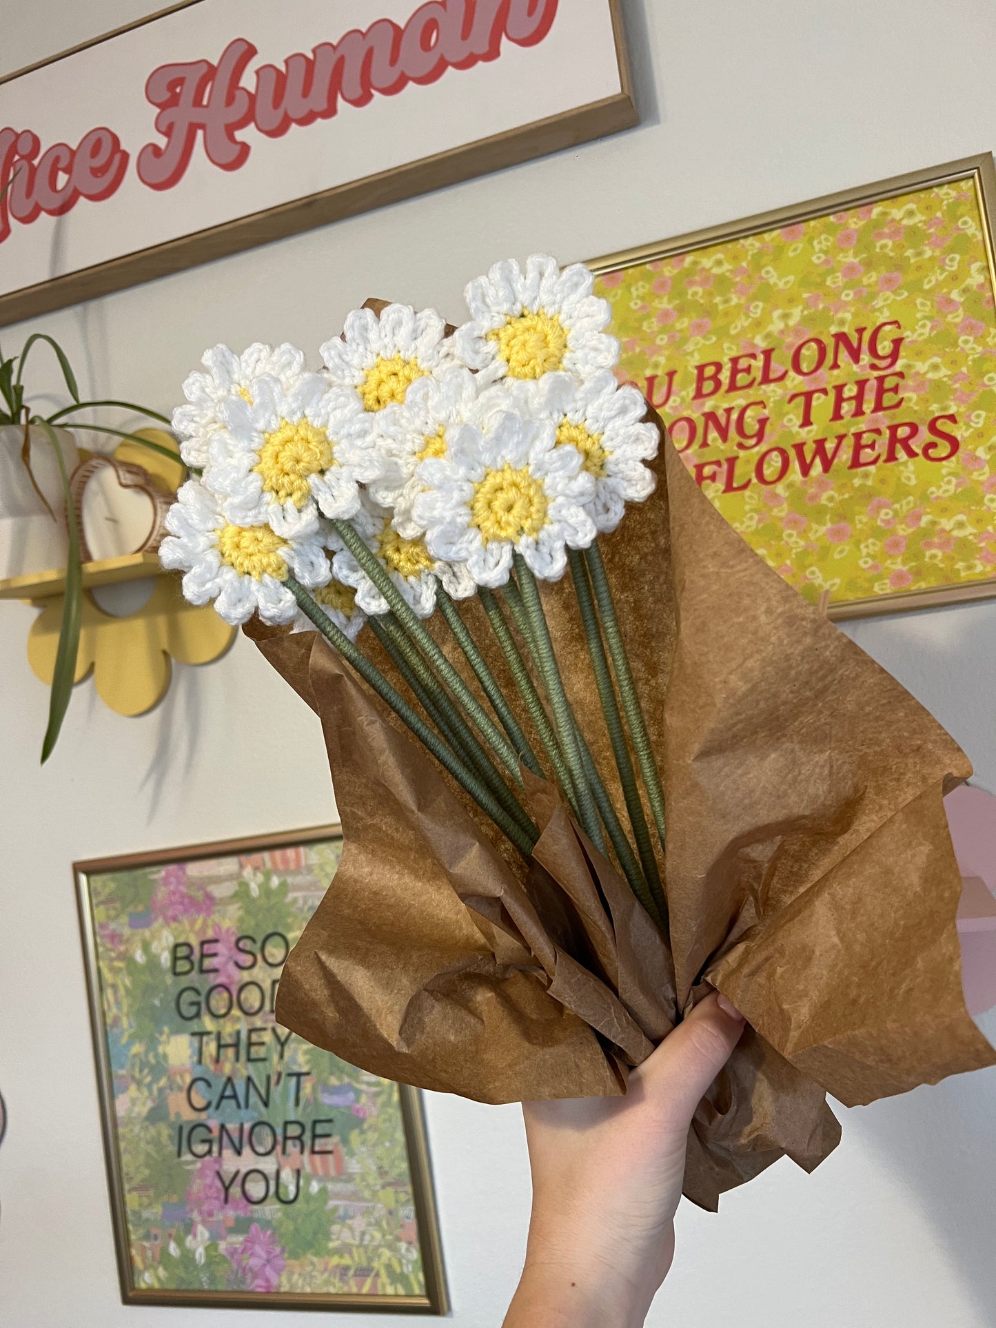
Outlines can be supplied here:
[[[717, 246], [732, 246], [734, 242], [745, 242], [744, 252], [749, 252], [752, 244], [757, 244], [760, 247], [762, 242], [768, 242], [772, 238], [773, 232], [782, 232], [786, 228], [794, 228], [795, 231], [799, 228], [805, 230], [807, 223], [822, 222], [839, 214], [854, 214], [858, 210], [874, 210], [879, 205], [887, 205], [904, 195], [942, 190], [947, 186], [954, 186], [961, 182], [965, 182], [969, 186], [977, 207], [981, 240], [979, 252], [984, 254], [989, 291], [992, 292], [996, 291], [996, 262], [993, 259], [996, 167], [993, 167], [993, 158], [991, 153], [964, 157], [959, 161], [946, 162], [944, 165], [934, 166], [926, 170], [895, 175], [890, 179], [878, 181], [872, 185], [841, 190], [834, 194], [826, 194], [821, 198], [809, 199], [803, 203], [773, 208], [766, 212], [758, 212], [753, 216], [745, 216], [740, 220], [718, 226], [709, 226], [699, 231], [677, 235], [673, 239], [603, 255], [590, 260], [587, 266], [602, 283], [599, 293], [611, 297], [612, 291], [606, 288], [604, 279], [607, 276], [610, 280], [615, 280], [620, 272], [628, 278], [633, 274], [633, 270], [640, 270], [643, 278], [651, 264], [667, 264], [669, 260], [699, 256], [701, 251], [705, 250], [716, 252]], [[846, 224], [846, 222], [842, 222], [841, 224]], [[777, 268], [777, 252], [773, 258], [770, 246], [766, 259], [772, 267]], [[899, 267], [902, 264], [896, 262], [894, 266]], [[858, 278], [858, 280], [861, 280], [861, 278]], [[672, 303], [677, 304], [676, 300]], [[704, 301], [704, 312], [708, 312], [706, 305], [708, 301]], [[616, 320], [616, 332], [622, 335], [625, 343], [627, 328], [623, 328], [620, 332], [619, 320]], [[996, 344], [996, 340], [993, 339], [993, 329], [996, 329], [996, 321], [993, 321], [992, 312], [989, 311], [987, 340], [991, 345], [985, 347], [987, 353], [991, 352], [992, 344]], [[710, 360], [720, 360], [720, 357], [721, 352], [718, 349], [709, 352], [706, 356], [706, 359]], [[633, 371], [636, 360], [639, 360], [639, 353], [636, 353], [636, 357], [631, 356], [629, 361], [627, 361], [627, 351], [624, 345], [620, 368], [627, 371], [627, 376], [640, 385], [639, 373]], [[705, 430], [704, 436], [708, 437]], [[717, 503], [717, 506], [722, 510], [721, 503]], [[741, 530], [741, 533], [744, 531]], [[745, 538], [748, 538], [746, 534]], [[750, 539], [749, 542], [753, 543]], [[993, 560], [996, 562], [996, 558], [993, 558]], [[976, 576], [973, 579], [965, 579], [952, 584], [896, 590], [861, 596], [845, 596], [841, 599], [830, 598], [829, 604], [823, 596], [823, 603], [827, 608], [829, 616], [831, 619], [841, 620], [867, 618], [886, 612], [908, 612], [919, 608], [967, 603], [979, 599], [988, 599], [993, 595], [996, 595], [996, 567], [993, 568], [993, 574], [989, 576]], [[810, 598], [815, 599], [817, 596], [813, 595]]]

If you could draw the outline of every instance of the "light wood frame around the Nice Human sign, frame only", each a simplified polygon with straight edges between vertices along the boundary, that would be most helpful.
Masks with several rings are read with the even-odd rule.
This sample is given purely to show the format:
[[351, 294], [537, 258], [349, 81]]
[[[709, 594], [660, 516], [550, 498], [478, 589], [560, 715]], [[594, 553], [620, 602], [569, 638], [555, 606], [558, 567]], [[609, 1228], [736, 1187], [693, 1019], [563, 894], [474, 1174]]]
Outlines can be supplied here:
[[[157, 19], [202, 3], [203, 0], [181, 0], [179, 4], [157, 9], [154, 13], [116, 28], [113, 32], [102, 33], [69, 50], [62, 50], [7, 74], [0, 78], [0, 85], [110, 41], [134, 28], [145, 27]], [[633, 125], [639, 124], [639, 112], [633, 96], [622, 5], [620, 0], [607, 0], [607, 3], [619, 66], [619, 93], [489, 138], [406, 162], [374, 175], [349, 181], [305, 198], [292, 199], [276, 207], [239, 216], [220, 226], [195, 231], [133, 254], [122, 254], [105, 263], [19, 291], [0, 293], [0, 327], [77, 304], [81, 300], [93, 300], [102, 295], [110, 295], [113, 291], [141, 286], [159, 276], [167, 276], [170, 272], [228, 258], [232, 254], [286, 239], [317, 226], [327, 226], [331, 222], [356, 216], [406, 198], [430, 194], [448, 185], [487, 175], [505, 170], [507, 166], [517, 166], [521, 162], [576, 147], [579, 143], [607, 134], [632, 129]]]

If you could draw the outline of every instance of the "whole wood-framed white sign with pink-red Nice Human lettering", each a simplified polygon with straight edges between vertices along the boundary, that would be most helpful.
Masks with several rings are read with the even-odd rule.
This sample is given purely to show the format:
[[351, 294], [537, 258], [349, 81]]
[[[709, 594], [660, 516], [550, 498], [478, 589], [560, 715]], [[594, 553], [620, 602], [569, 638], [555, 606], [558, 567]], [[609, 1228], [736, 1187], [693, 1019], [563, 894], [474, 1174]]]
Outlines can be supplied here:
[[0, 323], [636, 118], [619, 0], [185, 0], [0, 81]]

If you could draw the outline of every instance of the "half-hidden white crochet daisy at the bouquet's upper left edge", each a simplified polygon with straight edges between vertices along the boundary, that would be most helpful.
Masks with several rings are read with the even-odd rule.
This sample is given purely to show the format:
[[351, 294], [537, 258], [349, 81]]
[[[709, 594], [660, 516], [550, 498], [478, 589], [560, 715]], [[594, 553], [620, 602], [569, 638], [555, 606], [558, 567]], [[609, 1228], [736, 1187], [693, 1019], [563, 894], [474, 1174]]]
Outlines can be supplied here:
[[278, 378], [290, 388], [304, 373], [304, 355], [290, 343], [263, 345], [254, 343], [242, 355], [227, 345], [205, 351], [201, 363], [207, 373], [195, 372], [183, 384], [187, 405], [173, 412], [173, 432], [179, 440], [179, 454], [187, 466], [201, 470], [207, 462], [207, 445], [224, 424], [222, 406], [232, 398], [252, 400], [254, 384], [260, 374]]

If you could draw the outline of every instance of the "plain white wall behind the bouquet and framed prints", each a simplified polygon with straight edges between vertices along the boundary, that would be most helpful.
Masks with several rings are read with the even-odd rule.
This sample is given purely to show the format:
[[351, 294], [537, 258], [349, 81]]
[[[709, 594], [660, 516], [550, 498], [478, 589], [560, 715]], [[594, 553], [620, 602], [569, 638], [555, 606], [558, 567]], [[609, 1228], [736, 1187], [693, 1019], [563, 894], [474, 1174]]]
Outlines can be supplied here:
[[[570, 0], [563, 0], [570, 4]], [[623, 0], [643, 126], [486, 179], [181, 272], [37, 325], [94, 396], [171, 406], [201, 351], [284, 337], [315, 348], [368, 295], [458, 311], [497, 258], [571, 260], [996, 146], [991, 0]], [[16, 69], [151, 0], [0, 0]], [[13, 29], [13, 31], [11, 31]], [[27, 328], [4, 332], [15, 347]], [[53, 384], [54, 385], [54, 384]], [[178, 669], [125, 720], [77, 689], [58, 749], [33, 611], [0, 606], [0, 1321], [5, 1328], [193, 1328], [203, 1311], [118, 1303], [69, 865], [284, 830], [333, 814], [311, 714], [244, 640]], [[965, 746], [996, 791], [996, 604], [851, 629]], [[996, 1072], [846, 1112], [838, 1151], [784, 1162], [679, 1218], [652, 1324], [983, 1328], [996, 1323]], [[515, 1283], [529, 1203], [518, 1113], [428, 1102], [461, 1328], [490, 1328]], [[290, 1313], [219, 1313], [231, 1328]], [[336, 1316], [343, 1324], [386, 1321]]]

